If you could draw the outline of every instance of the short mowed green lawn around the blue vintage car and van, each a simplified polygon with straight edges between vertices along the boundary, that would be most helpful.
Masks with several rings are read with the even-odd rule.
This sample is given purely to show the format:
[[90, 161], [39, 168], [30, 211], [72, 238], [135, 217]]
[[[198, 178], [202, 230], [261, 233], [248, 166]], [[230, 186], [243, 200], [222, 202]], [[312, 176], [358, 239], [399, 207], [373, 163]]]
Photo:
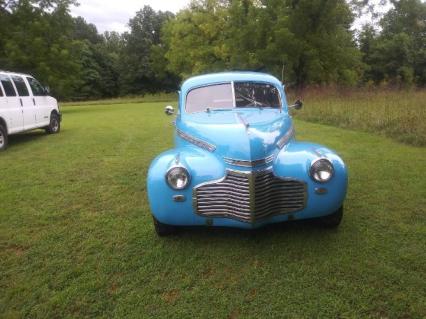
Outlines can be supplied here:
[[426, 148], [297, 121], [349, 167], [337, 230], [154, 233], [165, 103], [66, 106], [0, 154], [0, 317], [424, 318]]

